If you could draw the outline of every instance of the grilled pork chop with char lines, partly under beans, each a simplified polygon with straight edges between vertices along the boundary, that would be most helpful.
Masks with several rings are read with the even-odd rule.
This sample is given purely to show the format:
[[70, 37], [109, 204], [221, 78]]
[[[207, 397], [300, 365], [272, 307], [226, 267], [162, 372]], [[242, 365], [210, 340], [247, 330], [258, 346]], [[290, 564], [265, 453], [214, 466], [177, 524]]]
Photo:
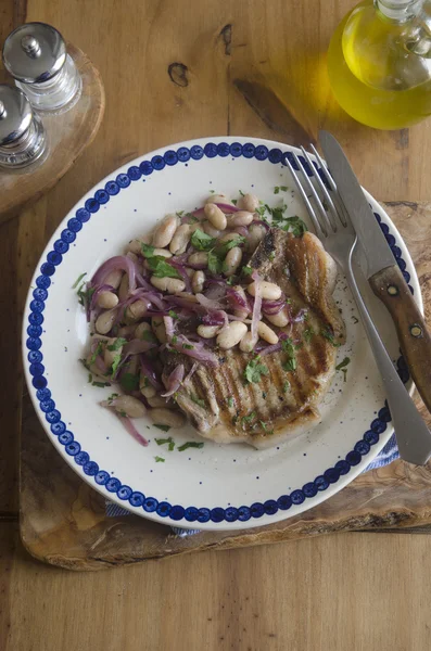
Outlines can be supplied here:
[[[333, 301], [335, 263], [320, 241], [309, 232], [301, 238], [271, 229], [250, 263], [263, 280], [277, 283], [290, 301], [293, 318], [306, 310], [303, 321], [284, 331], [290, 352], [262, 356], [268, 369], [258, 382], [244, 381], [248, 363], [255, 354], [239, 347], [219, 350], [217, 368], [199, 365], [177, 392], [179, 408], [198, 432], [217, 443], [248, 443], [271, 447], [292, 432], [309, 430], [319, 422], [318, 404], [329, 390], [334, 373], [337, 347], [344, 342], [344, 323]], [[302, 311], [304, 314], [304, 311]], [[289, 356], [295, 370], [287, 370]], [[166, 355], [164, 374], [178, 363], [178, 355]], [[191, 360], [181, 355], [186, 372]]]

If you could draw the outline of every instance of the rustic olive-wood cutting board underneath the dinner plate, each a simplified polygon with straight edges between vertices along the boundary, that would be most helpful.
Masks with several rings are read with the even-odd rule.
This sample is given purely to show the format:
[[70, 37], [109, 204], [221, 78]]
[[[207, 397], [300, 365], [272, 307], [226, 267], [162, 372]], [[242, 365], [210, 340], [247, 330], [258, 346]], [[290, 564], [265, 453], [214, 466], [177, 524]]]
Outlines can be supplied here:
[[[431, 323], [431, 203], [383, 204], [418, 271]], [[419, 399], [418, 399], [419, 404]], [[422, 405], [422, 413], [426, 409]], [[429, 424], [431, 418], [427, 414]], [[358, 529], [400, 529], [431, 523], [431, 463], [403, 461], [365, 473], [343, 490], [284, 522], [180, 538], [170, 528], [128, 515], [106, 518], [104, 499], [85, 484], [50, 444], [28, 395], [21, 433], [21, 536], [36, 558], [71, 570], [100, 570], [147, 559], [280, 542]]]

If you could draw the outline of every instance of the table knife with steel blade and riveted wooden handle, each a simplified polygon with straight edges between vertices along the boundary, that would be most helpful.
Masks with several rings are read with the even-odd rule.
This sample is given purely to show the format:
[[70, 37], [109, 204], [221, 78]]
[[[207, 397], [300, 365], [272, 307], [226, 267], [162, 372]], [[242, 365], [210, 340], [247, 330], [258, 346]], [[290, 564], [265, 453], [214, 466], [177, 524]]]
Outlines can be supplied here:
[[423, 317], [343, 150], [328, 131], [320, 131], [319, 140], [364, 250], [368, 282], [392, 317], [416, 387], [431, 411], [431, 337]]

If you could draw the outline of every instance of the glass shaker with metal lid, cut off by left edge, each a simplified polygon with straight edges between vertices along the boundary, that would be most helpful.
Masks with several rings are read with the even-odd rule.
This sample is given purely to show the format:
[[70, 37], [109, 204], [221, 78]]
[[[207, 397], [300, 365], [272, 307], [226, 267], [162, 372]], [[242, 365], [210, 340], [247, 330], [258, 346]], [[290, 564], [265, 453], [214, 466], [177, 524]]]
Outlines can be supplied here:
[[14, 86], [0, 84], [0, 174], [40, 164], [47, 151], [43, 125], [26, 95]]

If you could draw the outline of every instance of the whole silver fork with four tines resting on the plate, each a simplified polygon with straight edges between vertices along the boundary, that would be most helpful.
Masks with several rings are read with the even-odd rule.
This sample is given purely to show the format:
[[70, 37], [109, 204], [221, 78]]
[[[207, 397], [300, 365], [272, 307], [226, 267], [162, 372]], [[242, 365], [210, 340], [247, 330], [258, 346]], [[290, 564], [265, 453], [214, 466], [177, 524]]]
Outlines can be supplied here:
[[368, 308], [363, 301], [352, 268], [352, 257], [357, 244], [355, 229], [353, 228], [347, 210], [337, 191], [337, 186], [327, 170], [324, 161], [313, 144], [310, 146], [321, 168], [321, 175], [325, 177], [325, 181], [331, 189], [331, 193], [328, 191], [319, 173], [316, 170], [309, 154], [304, 148], [301, 148], [301, 151], [307, 165], [309, 165], [313, 178], [324, 197], [325, 205], [307, 174], [304, 163], [294, 152], [292, 152], [292, 156], [297, 168], [301, 170], [303, 180], [301, 180], [300, 175], [296, 173], [288, 157], [286, 158], [287, 165], [292, 174], [296, 188], [304, 200], [316, 235], [324, 244], [326, 251], [333, 257], [344, 272], [355, 298], [365, 332], [382, 378], [388, 405], [395, 429], [400, 456], [409, 463], [419, 465], [424, 464], [431, 456], [431, 432], [401, 381], [392, 359], [370, 317]]

